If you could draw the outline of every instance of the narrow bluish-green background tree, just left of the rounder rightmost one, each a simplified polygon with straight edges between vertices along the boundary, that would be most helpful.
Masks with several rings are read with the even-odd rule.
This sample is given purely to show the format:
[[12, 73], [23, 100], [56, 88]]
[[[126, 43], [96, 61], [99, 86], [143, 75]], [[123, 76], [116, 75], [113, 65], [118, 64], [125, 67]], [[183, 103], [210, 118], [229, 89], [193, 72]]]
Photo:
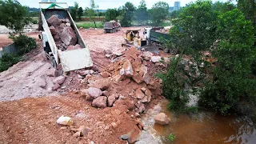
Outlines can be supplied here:
[[135, 11], [135, 17], [140, 24], [144, 24], [148, 20], [149, 14], [146, 9], [146, 2], [145, 0], [141, 0], [139, 2], [138, 9]]

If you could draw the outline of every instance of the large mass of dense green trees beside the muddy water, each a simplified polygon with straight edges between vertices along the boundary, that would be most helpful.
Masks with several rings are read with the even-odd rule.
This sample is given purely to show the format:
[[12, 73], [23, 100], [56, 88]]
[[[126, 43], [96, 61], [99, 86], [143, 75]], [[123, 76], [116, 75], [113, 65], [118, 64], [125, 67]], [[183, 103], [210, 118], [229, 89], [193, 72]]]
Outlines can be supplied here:
[[189, 94], [198, 94], [198, 106], [206, 109], [256, 114], [256, 79], [250, 67], [256, 49], [249, 18], [228, 2], [197, 1], [182, 8], [172, 24], [166, 46], [177, 49], [179, 57], [171, 59], [166, 73], [158, 74], [170, 110], [197, 110], [187, 102]]

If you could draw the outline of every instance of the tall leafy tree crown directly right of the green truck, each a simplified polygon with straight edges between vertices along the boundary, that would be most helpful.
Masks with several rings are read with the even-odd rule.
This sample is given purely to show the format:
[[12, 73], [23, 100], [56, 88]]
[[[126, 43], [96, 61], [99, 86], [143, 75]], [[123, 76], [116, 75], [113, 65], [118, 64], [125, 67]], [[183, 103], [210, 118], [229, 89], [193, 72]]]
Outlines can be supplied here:
[[190, 3], [183, 8], [178, 19], [172, 20], [176, 30], [171, 32], [171, 36], [186, 50], [206, 50], [215, 40], [216, 19], [217, 14], [214, 14], [210, 1]]

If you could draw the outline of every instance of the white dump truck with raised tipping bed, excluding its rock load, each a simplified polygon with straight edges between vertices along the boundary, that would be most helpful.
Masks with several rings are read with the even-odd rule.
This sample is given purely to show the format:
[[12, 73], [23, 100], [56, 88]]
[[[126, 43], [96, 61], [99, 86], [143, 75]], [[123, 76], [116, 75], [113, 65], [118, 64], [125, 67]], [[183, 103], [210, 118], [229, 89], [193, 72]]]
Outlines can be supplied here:
[[[41, 14], [40, 21], [43, 28], [39, 38], [42, 39], [46, 57], [50, 58], [52, 65], [55, 68], [61, 65], [63, 72], [93, 66], [90, 50], [83, 41], [73, 18], [70, 16], [69, 6], [67, 6], [66, 2], [39, 2], [39, 6]], [[70, 21], [70, 27], [74, 30], [74, 34], [77, 38], [75, 44], [81, 46], [79, 49], [65, 51], [58, 49], [53, 34], [50, 31], [50, 26], [47, 23], [47, 20], [53, 15], [56, 15], [59, 19]]]

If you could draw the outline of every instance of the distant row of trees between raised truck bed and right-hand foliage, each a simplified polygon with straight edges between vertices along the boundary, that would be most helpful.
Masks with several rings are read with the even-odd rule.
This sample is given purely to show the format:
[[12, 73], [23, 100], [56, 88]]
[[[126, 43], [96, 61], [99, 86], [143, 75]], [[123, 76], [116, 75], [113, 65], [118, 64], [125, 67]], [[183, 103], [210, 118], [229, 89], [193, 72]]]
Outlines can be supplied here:
[[105, 21], [119, 20], [122, 26], [132, 26], [132, 22], [137, 22], [139, 25], [151, 23], [154, 26], [162, 25], [162, 22], [169, 16], [169, 5], [166, 2], [156, 2], [152, 9], [148, 10], [145, 0], [141, 0], [138, 7], [131, 2], [126, 2], [124, 6], [118, 9], [107, 9], [105, 13], [98, 11], [98, 5], [94, 0], [90, 1], [90, 7], [82, 10], [77, 2], [70, 9], [72, 18], [81, 20], [82, 16], [89, 17], [92, 22], [95, 22], [95, 17], [105, 16]]

